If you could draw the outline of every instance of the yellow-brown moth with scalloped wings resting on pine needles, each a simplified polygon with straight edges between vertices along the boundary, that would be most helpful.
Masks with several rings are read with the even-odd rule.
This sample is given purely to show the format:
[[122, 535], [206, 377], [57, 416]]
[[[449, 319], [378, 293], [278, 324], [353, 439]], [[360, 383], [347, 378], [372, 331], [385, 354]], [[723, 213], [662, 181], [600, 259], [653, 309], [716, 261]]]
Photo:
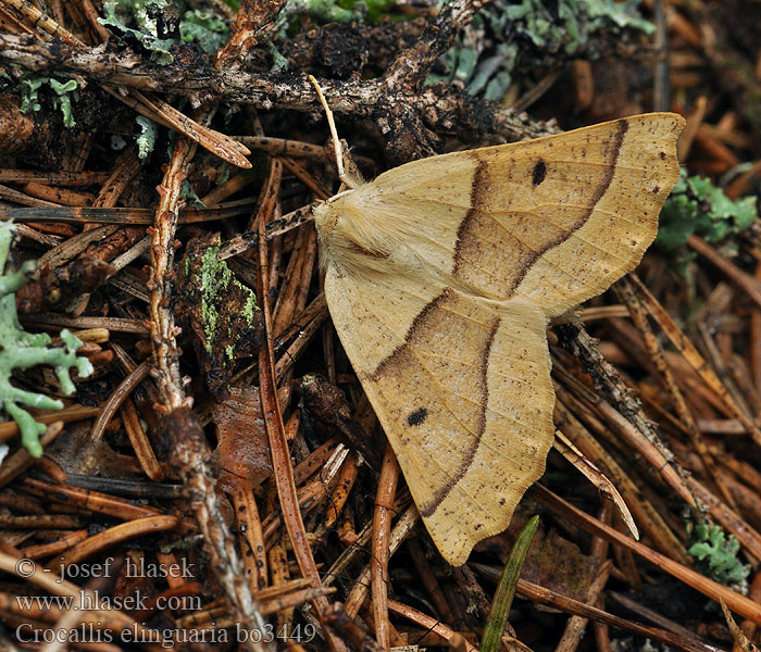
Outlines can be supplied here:
[[638, 264], [683, 127], [649, 113], [413, 161], [314, 210], [336, 330], [449, 563], [544, 473], [548, 322]]

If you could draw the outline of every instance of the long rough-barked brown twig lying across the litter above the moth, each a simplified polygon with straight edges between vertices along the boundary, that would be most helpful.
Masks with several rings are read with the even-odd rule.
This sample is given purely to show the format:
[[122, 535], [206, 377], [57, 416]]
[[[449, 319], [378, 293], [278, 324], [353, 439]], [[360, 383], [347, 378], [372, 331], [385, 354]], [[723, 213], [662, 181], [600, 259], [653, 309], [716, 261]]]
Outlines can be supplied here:
[[[448, 11], [458, 21], [464, 22], [472, 15], [474, 4], [467, 0], [450, 4], [452, 7]], [[448, 42], [447, 35], [451, 34], [448, 28], [441, 27], [446, 34], [440, 38], [436, 36], [435, 28], [432, 30], [431, 38], [436, 43], [444, 46]], [[552, 130], [546, 124], [532, 123], [525, 115], [516, 116], [509, 110], [442, 85], [427, 87], [421, 92], [412, 86], [398, 86], [397, 82], [408, 65], [412, 65], [414, 73], [422, 74], [431, 64], [422, 49], [415, 50], [415, 53], [420, 54], [419, 61], [410, 61], [402, 53], [397, 59], [397, 66], [391, 68], [394, 74], [380, 79], [320, 80], [333, 111], [358, 118], [367, 117], [378, 124], [387, 137], [387, 152], [392, 161], [403, 162], [435, 152], [439, 146], [434, 137], [437, 130], [454, 130], [466, 141], [487, 135], [511, 139], [537, 137]], [[275, 78], [240, 70], [215, 70], [201, 64], [194, 68], [173, 64], [155, 66], [126, 53], [113, 55], [93, 50], [53, 52], [48, 43], [1, 34], [0, 58], [38, 73], [54, 67], [60, 74], [86, 75], [104, 85], [126, 86], [140, 91], [180, 95], [213, 92], [226, 102], [304, 113], [312, 113], [319, 105], [314, 89], [305, 77], [284, 79], [282, 75]], [[410, 138], [410, 129], [413, 138]]]

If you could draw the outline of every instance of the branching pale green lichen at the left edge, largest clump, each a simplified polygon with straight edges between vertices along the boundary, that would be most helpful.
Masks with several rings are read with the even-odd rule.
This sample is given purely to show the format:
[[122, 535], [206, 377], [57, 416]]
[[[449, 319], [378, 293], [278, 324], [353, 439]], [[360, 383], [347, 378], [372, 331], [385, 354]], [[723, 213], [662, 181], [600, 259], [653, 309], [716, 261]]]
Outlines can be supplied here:
[[0, 271], [4, 272], [0, 276], [0, 406], [18, 424], [22, 443], [29, 454], [39, 457], [42, 454], [39, 436], [45, 432], [46, 426], [37, 423], [21, 405], [61, 410], [63, 403], [11, 385], [11, 374], [14, 369], [23, 371], [38, 364], [49, 364], [55, 372], [63, 393], [72, 394], [75, 387], [68, 375], [70, 368], [75, 367], [79, 377], [85, 377], [92, 373], [92, 365], [86, 358], [76, 356], [82, 341], [68, 330], [61, 331], [63, 346], [50, 347], [51, 340], [47, 333], [26, 333], [21, 327], [15, 293], [29, 280], [36, 264], [26, 261], [16, 272], [7, 269], [12, 241], [13, 225], [10, 222], [0, 223]]

